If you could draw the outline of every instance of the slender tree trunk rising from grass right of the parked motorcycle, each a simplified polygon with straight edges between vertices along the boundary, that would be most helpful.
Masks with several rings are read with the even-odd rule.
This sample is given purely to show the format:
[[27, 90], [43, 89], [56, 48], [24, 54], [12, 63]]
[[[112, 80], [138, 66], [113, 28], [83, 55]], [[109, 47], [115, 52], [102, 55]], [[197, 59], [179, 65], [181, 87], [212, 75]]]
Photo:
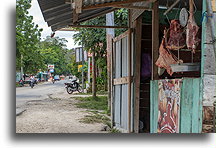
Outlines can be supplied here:
[[96, 97], [96, 66], [95, 66], [95, 52], [92, 51], [92, 97]]

